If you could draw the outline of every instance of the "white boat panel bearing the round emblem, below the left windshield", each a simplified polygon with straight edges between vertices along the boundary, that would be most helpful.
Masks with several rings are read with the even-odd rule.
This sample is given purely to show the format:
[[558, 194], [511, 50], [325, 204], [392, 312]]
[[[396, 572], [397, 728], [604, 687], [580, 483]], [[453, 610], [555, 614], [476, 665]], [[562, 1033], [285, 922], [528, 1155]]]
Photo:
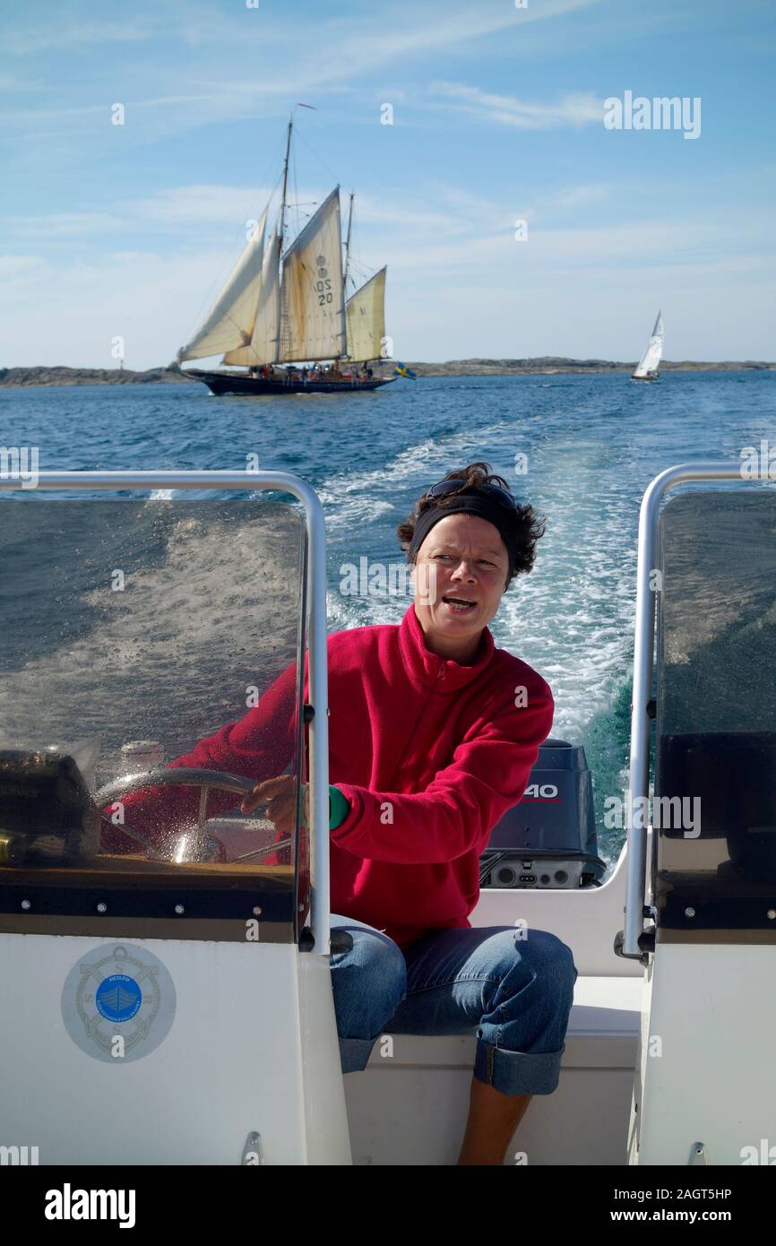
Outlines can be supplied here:
[[62, 991], [87, 952], [120, 942], [0, 934], [0, 1144], [36, 1146], [41, 1165], [239, 1165], [255, 1131], [264, 1164], [350, 1164], [324, 958], [127, 939], [169, 971], [176, 1014], [156, 1050], [105, 1062], [73, 1042]]

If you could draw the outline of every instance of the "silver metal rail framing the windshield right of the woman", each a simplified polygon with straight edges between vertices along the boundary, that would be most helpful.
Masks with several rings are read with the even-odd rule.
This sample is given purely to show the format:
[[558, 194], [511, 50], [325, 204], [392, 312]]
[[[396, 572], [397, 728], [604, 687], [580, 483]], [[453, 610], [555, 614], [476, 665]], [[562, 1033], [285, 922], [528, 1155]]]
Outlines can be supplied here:
[[[644, 933], [644, 898], [646, 882], [646, 827], [634, 825], [636, 801], [649, 796], [649, 703], [655, 663], [655, 611], [658, 589], [650, 583], [655, 571], [658, 520], [660, 502], [670, 488], [690, 481], [735, 480], [740, 485], [765, 483], [747, 480], [741, 465], [717, 464], [710, 460], [668, 467], [650, 481], [639, 512], [639, 546], [636, 567], [636, 613], [633, 653], [633, 703], [630, 706], [630, 761], [628, 802], [628, 860], [625, 876], [625, 920], [622, 954], [643, 957], [639, 937]], [[644, 807], [639, 805], [640, 809]]]

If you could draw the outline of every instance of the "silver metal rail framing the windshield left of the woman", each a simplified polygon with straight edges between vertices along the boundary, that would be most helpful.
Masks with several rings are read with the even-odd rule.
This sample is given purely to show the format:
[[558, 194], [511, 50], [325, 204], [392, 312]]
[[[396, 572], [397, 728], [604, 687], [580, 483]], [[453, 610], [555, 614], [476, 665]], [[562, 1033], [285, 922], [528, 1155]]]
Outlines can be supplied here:
[[[326, 531], [318, 493], [284, 471], [41, 471], [35, 488], [118, 490], [206, 488], [291, 493], [303, 507], [308, 533], [308, 654], [310, 718], [310, 835], [313, 839], [311, 926], [314, 951], [329, 956], [329, 679], [326, 669]], [[0, 476], [0, 490], [19, 491], [17, 473]], [[304, 660], [304, 655], [301, 655]]]

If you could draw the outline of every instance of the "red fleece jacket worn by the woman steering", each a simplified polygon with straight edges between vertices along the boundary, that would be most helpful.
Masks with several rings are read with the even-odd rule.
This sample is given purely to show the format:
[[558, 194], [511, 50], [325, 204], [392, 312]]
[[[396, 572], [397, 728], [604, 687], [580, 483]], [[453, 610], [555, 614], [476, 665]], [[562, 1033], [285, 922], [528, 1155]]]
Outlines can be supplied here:
[[[330, 832], [331, 911], [385, 930], [400, 947], [431, 930], [470, 926], [480, 854], [523, 795], [553, 699], [536, 670], [485, 629], [465, 667], [431, 653], [410, 606], [401, 623], [328, 638], [329, 780], [350, 801]], [[288, 706], [294, 667], [237, 723], [201, 740], [174, 766], [248, 778], [280, 774], [291, 754]], [[305, 699], [306, 699], [305, 674]], [[320, 713], [320, 710], [319, 710]], [[198, 801], [194, 789], [154, 789], [167, 811]], [[127, 796], [137, 826], [146, 794]], [[213, 794], [208, 815], [234, 807]]]

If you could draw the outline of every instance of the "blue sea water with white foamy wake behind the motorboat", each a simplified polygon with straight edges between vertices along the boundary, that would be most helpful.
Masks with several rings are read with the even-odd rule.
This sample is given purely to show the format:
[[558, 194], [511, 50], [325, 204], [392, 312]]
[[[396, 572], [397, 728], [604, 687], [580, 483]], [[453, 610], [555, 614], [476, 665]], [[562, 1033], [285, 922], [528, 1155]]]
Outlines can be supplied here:
[[[258, 461], [301, 476], [326, 517], [331, 630], [401, 619], [411, 598], [396, 525], [448, 471], [490, 462], [547, 521], [533, 572], [504, 594], [491, 629], [552, 687], [553, 736], [584, 745], [612, 860], [623, 832], [604, 829], [600, 812], [627, 786], [641, 496], [675, 464], [739, 464], [761, 439], [776, 446], [775, 386], [775, 373], [739, 371], [664, 373], [655, 385], [620, 373], [421, 378], [374, 394], [282, 399], [214, 397], [194, 384], [9, 389], [0, 446], [36, 446], [41, 471]], [[239, 563], [208, 548], [204, 531], [186, 540], [192, 561], [202, 542], [213, 591], [232, 589], [222, 581]], [[148, 559], [163, 556], [151, 542]], [[21, 572], [25, 549], [16, 557], [4, 577]], [[184, 608], [184, 594], [176, 599]], [[54, 669], [67, 619], [52, 612], [36, 660]], [[163, 697], [174, 672], [162, 665], [157, 678]]]

